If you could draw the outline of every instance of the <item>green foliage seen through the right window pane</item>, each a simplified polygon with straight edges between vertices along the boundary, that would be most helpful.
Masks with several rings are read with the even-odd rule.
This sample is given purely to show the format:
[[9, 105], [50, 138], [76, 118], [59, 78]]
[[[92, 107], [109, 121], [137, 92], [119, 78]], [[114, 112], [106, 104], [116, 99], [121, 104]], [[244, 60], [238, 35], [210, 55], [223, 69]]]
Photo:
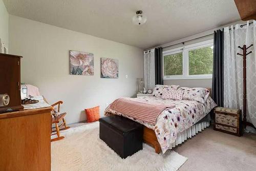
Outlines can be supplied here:
[[213, 56], [211, 47], [188, 51], [189, 75], [212, 74]]

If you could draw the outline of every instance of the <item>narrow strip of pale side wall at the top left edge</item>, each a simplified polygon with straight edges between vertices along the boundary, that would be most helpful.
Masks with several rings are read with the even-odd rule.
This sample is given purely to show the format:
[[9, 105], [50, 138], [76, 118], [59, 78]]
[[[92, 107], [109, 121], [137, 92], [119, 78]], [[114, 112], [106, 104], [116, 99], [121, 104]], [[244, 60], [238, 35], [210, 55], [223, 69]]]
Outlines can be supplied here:
[[9, 13], [7, 12], [4, 2], [0, 0], [0, 38], [7, 48], [9, 47], [8, 20]]

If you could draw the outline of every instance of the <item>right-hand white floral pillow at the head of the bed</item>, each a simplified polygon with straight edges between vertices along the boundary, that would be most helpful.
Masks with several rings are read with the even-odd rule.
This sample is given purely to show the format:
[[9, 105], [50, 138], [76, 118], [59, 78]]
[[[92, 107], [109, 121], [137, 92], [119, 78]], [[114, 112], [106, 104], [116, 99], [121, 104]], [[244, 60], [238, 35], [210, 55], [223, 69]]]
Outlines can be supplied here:
[[201, 103], [205, 103], [208, 98], [210, 92], [205, 88], [187, 88], [181, 87], [178, 90], [183, 90], [183, 99], [186, 100], [196, 100]]

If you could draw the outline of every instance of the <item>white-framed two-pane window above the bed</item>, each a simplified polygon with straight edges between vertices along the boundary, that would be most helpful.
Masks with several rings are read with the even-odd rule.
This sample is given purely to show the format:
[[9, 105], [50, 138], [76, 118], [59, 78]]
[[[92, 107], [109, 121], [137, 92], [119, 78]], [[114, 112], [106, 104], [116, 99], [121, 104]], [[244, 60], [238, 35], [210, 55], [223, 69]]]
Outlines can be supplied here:
[[164, 79], [212, 78], [213, 40], [163, 52]]

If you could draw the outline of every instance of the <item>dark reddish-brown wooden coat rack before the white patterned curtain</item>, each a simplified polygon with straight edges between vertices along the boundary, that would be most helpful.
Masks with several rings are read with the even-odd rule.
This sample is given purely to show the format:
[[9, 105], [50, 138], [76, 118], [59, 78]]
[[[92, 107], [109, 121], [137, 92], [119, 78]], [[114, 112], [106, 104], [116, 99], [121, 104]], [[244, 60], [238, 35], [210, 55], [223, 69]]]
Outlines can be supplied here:
[[247, 120], [246, 120], [246, 56], [252, 53], [252, 51], [247, 53], [247, 49], [252, 47], [253, 44], [251, 44], [249, 47], [246, 48], [246, 45], [241, 48], [240, 46], [238, 48], [243, 50], [243, 54], [237, 53], [237, 55], [243, 56], [243, 112], [244, 112], [244, 126], [246, 127]]

